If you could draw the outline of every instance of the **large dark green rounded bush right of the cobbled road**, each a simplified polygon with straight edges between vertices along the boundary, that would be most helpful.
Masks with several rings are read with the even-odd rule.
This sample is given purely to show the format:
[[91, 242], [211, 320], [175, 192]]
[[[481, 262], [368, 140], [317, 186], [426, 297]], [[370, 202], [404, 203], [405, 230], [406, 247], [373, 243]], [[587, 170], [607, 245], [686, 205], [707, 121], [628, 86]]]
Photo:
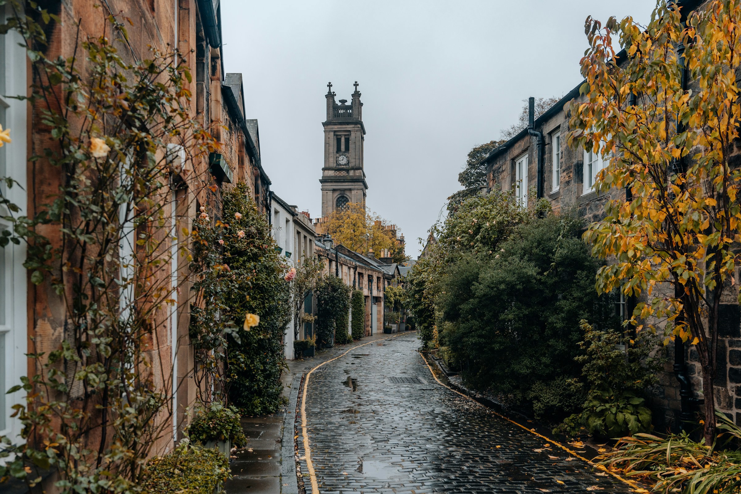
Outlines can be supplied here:
[[555, 215], [531, 220], [491, 254], [464, 254], [445, 270], [439, 340], [471, 384], [529, 403], [537, 383], [579, 375], [582, 318], [617, 324], [599, 310], [597, 262], [580, 226]]

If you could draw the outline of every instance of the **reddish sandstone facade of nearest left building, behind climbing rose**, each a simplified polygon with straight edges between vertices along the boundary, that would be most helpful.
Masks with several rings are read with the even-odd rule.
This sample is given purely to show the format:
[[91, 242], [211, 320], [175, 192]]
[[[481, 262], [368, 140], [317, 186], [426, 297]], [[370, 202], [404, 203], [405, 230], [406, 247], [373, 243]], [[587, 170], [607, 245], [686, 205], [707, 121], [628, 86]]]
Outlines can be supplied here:
[[[97, 38], [106, 32], [107, 16], [124, 16], [128, 40], [121, 41], [119, 56], [125, 61], [147, 58], [149, 48], [163, 53], [177, 47], [181, 60], [193, 74], [187, 86], [192, 99], [189, 112], [218, 141], [212, 153], [186, 153], [177, 150], [179, 166], [172, 168], [171, 191], [164, 206], [167, 228], [173, 232], [172, 259], [161, 273], [172, 281], [173, 306], [162, 311], [153, 321], [153, 336], [147, 341], [147, 356], [153, 362], [154, 381], [163, 392], [173, 394], [173, 418], [167, 418], [172, 431], [153, 444], [152, 453], [162, 454], [183, 437], [189, 421], [188, 410], [196, 400], [193, 384], [194, 353], [190, 343], [191, 281], [187, 250], [188, 234], [200, 207], [206, 207], [218, 218], [221, 191], [233, 187], [236, 181], [253, 186], [260, 210], [270, 212], [270, 178], [262, 167], [259, 153], [259, 133], [256, 120], [245, 119], [245, 95], [242, 76], [225, 73], [221, 40], [221, 10], [218, 0], [107, 0], [99, 8], [94, 2], [62, 0], [44, 2], [50, 13], [62, 23], [51, 22], [47, 37], [47, 57], [70, 57], [77, 39]], [[4, 15], [7, 6], [0, 6]], [[79, 24], [79, 32], [78, 32]], [[108, 27], [110, 33], [110, 27]], [[15, 31], [0, 35], [0, 94], [26, 95], [33, 82], [33, 72], [24, 49], [19, 47]], [[0, 166], [21, 187], [13, 187], [10, 198], [19, 204], [21, 214], [33, 216], [47, 204], [49, 197], [59, 192], [63, 176], [58, 167], [44, 160], [28, 161], [29, 156], [43, 154], [54, 139], [42, 123], [41, 108], [25, 101], [0, 96], [0, 124], [12, 130], [12, 145], [0, 148]], [[71, 125], [75, 125], [74, 122]], [[168, 150], [176, 150], [175, 146]], [[170, 146], [168, 145], [168, 146]], [[168, 151], [169, 152], [169, 151]], [[193, 158], [186, 158], [193, 156]], [[4, 172], [5, 173], [5, 172]], [[29, 191], [28, 193], [25, 191]], [[310, 220], [302, 221], [309, 237]], [[1, 227], [2, 225], [0, 225]], [[59, 224], [39, 227], [39, 233], [52, 239], [54, 247], [62, 242]], [[136, 249], [136, 247], [133, 247]], [[169, 247], [168, 247], [169, 249]], [[136, 252], [136, 250], [134, 250]], [[310, 252], [310, 250], [309, 250]], [[24, 356], [31, 351], [31, 338], [36, 350], [56, 350], [64, 338], [69, 319], [63, 299], [49, 284], [32, 284], [23, 267], [25, 251], [22, 245], [10, 244], [1, 250], [0, 259], [0, 435], [19, 437], [21, 424], [11, 417], [11, 406], [22, 401], [22, 392], [6, 395], [5, 391], [19, 382], [21, 375], [36, 373], [36, 365]], [[23, 287], [23, 288], [21, 288]], [[171, 427], [170, 427], [171, 426]]]

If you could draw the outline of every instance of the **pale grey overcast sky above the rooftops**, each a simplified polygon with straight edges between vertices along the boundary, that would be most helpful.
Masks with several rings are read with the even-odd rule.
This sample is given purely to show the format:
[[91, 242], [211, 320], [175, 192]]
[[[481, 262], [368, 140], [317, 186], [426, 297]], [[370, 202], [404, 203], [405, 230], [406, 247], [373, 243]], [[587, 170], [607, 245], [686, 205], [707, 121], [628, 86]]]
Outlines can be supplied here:
[[321, 216], [325, 93], [362, 93], [368, 209], [419, 254], [459, 190], [472, 147], [499, 138], [528, 96], [579, 84], [589, 15], [633, 16], [651, 0], [222, 0], [226, 72], [245, 77], [262, 164], [289, 204]]

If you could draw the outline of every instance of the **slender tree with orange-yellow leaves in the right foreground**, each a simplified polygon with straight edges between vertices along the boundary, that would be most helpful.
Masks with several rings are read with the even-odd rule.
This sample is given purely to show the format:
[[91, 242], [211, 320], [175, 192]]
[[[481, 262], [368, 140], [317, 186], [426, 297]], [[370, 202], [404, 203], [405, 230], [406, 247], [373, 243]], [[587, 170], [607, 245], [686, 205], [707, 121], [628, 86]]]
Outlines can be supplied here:
[[660, 1], [651, 19], [647, 27], [587, 19], [585, 101], [571, 104], [568, 139], [610, 157], [599, 192], [626, 190], [585, 233], [595, 255], [614, 260], [599, 270], [597, 290], [639, 296], [637, 330], [694, 344], [712, 444], [718, 307], [738, 296], [741, 261], [741, 4], [683, 13]]

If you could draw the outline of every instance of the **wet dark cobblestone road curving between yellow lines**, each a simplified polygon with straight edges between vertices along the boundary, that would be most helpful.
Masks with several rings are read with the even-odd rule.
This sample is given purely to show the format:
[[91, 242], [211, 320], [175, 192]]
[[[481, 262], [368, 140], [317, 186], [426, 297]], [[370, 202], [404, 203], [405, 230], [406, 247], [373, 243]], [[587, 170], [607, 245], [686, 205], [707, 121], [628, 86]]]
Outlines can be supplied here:
[[311, 375], [306, 414], [321, 493], [632, 491], [556, 447], [535, 452], [542, 438], [440, 386], [418, 347], [416, 334], [379, 341]]

